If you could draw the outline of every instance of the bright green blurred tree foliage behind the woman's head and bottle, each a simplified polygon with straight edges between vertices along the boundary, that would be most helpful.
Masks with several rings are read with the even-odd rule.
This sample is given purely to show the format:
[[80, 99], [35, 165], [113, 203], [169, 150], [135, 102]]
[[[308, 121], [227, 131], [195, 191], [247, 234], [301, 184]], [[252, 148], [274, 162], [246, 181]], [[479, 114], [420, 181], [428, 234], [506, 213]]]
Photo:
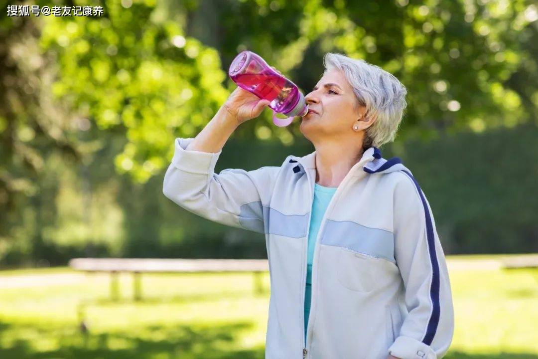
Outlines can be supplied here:
[[[174, 137], [209, 121], [228, 95], [226, 68], [245, 48], [305, 91], [330, 51], [394, 73], [409, 90], [402, 139], [536, 118], [536, 82], [522, 81], [536, 76], [536, 6], [527, 0], [125, 4], [104, 2], [102, 18], [49, 17], [41, 45], [58, 57], [54, 95], [99, 129], [125, 130], [117, 169], [138, 181], [167, 165]], [[300, 133], [266, 114], [239, 136], [291, 144]]]

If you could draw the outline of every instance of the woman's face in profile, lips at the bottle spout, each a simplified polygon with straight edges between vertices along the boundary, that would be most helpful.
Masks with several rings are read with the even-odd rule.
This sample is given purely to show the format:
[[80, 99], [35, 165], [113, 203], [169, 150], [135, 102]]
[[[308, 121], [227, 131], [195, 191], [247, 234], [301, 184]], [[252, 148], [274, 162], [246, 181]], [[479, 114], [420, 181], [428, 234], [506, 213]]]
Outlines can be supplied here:
[[325, 73], [305, 100], [309, 113], [302, 118], [300, 130], [311, 142], [356, 136], [353, 125], [365, 108], [358, 106], [357, 97], [341, 71], [331, 69]]

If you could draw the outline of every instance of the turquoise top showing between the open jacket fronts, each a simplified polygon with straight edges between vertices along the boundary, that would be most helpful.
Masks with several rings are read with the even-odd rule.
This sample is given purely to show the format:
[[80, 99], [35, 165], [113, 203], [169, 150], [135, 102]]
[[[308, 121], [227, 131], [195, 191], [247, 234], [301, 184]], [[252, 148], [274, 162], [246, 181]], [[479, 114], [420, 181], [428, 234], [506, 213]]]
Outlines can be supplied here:
[[305, 341], [308, 327], [308, 315], [310, 314], [310, 300], [312, 299], [312, 262], [314, 261], [314, 249], [316, 248], [317, 233], [320, 230], [321, 220], [325, 210], [329, 206], [336, 187], [323, 187], [317, 183], [314, 185], [314, 203], [312, 203], [312, 217], [310, 219], [310, 231], [308, 233], [308, 256], [305, 290]]

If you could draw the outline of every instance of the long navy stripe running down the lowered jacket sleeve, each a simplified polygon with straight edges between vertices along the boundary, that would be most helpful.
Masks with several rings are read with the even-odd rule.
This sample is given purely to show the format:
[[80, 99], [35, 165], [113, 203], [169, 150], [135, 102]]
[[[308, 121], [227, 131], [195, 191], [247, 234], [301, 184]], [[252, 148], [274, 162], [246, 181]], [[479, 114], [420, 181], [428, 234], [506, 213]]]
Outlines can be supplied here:
[[426, 235], [428, 238], [428, 250], [430, 254], [431, 270], [433, 272], [433, 276], [431, 278], [431, 287], [430, 287], [430, 298], [431, 298], [431, 303], [433, 304], [433, 309], [431, 311], [430, 320], [428, 322], [428, 328], [426, 330], [426, 334], [424, 335], [424, 339], [422, 339], [422, 342], [429, 346], [431, 345], [431, 342], [434, 340], [435, 332], [437, 331], [437, 326], [439, 324], [439, 316], [441, 314], [441, 307], [439, 305], [439, 288], [440, 288], [439, 263], [437, 262], [437, 254], [435, 252], [434, 228], [431, 223], [431, 216], [430, 216], [430, 211], [428, 209], [428, 203], [426, 202], [426, 199], [424, 198], [424, 195], [422, 194], [422, 190], [420, 189], [419, 183], [415, 180], [412, 174], [410, 174], [409, 172], [405, 170], [401, 170], [401, 171], [409, 176], [409, 178], [415, 184], [416, 189], [419, 191], [420, 199], [422, 200], [422, 206], [424, 206], [424, 215], [426, 215]]

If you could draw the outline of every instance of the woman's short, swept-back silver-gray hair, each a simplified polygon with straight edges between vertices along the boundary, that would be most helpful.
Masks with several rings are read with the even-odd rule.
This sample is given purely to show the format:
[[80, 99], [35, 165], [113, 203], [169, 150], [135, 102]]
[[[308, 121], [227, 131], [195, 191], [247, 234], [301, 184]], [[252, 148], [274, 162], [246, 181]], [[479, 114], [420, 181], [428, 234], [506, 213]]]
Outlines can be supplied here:
[[325, 72], [339, 69], [353, 88], [358, 103], [366, 107], [366, 116], [377, 117], [366, 129], [363, 148], [379, 147], [392, 142], [407, 106], [407, 90], [391, 73], [379, 66], [342, 54], [327, 53], [323, 57]]

